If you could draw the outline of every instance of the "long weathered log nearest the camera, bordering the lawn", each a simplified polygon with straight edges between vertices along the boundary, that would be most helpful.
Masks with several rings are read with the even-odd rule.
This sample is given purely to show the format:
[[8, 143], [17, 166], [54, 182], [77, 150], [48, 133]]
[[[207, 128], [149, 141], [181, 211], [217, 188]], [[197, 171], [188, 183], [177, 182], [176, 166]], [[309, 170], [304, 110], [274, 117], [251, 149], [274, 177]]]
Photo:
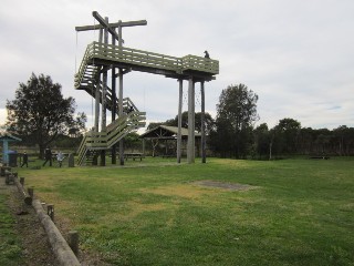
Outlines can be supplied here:
[[79, 266], [81, 265], [73, 250], [67, 245], [65, 238], [56, 228], [53, 221], [44, 212], [39, 200], [32, 201], [32, 206], [35, 209], [37, 216], [42, 223], [48, 235], [49, 242], [52, 246], [53, 253], [61, 266]]

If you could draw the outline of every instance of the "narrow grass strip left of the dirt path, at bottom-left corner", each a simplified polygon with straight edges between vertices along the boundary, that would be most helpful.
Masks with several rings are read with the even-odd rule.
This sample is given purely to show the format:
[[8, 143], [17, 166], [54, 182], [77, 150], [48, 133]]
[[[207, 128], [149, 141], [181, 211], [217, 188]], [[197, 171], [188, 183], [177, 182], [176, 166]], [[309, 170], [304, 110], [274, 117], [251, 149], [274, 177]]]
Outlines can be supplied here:
[[0, 265], [22, 265], [21, 243], [15, 235], [14, 218], [4, 204], [7, 198], [8, 195], [0, 194]]

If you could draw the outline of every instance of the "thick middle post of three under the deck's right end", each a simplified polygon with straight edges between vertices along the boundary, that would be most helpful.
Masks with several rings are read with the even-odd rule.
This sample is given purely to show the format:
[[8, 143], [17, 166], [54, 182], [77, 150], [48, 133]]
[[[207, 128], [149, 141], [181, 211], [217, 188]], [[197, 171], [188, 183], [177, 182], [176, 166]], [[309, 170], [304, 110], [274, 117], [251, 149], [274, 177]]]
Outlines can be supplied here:
[[192, 76], [188, 83], [188, 143], [187, 161], [195, 163], [195, 83]]

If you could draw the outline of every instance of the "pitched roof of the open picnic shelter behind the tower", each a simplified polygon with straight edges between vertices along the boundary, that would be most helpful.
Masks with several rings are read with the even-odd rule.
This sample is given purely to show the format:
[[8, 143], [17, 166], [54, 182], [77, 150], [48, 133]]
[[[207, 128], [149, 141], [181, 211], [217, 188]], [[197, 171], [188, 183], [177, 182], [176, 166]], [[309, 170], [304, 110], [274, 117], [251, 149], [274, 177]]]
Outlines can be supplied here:
[[[181, 137], [188, 137], [188, 129], [181, 127]], [[165, 140], [175, 140], [177, 139], [178, 127], [177, 126], [169, 126], [169, 125], [159, 125], [155, 129], [146, 131], [144, 134], [140, 135], [143, 139], [165, 139]], [[200, 137], [200, 133], [195, 133], [196, 137]]]

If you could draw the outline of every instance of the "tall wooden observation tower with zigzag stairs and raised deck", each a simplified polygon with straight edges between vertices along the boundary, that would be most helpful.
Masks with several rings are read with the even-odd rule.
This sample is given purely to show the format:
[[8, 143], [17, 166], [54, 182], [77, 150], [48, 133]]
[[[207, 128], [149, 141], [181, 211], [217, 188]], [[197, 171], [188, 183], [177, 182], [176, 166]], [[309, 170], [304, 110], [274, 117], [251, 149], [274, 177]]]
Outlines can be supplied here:
[[[86, 91], [95, 100], [94, 127], [87, 132], [79, 149], [77, 164], [97, 162], [105, 165], [106, 151], [112, 150], [112, 163], [116, 163], [116, 144], [119, 144], [119, 162], [124, 164], [123, 139], [145, 126], [145, 112], [140, 112], [129, 98], [123, 95], [123, 75], [131, 71], [148, 72], [176, 79], [179, 83], [177, 162], [180, 163], [183, 83], [188, 82], [188, 142], [187, 161], [195, 162], [195, 84], [200, 83], [201, 95], [201, 154], [205, 153], [205, 82], [215, 80], [219, 61], [209, 58], [186, 55], [176, 58], [123, 47], [124, 27], [146, 25], [146, 20], [110, 23], [96, 11], [93, 17], [100, 24], [76, 27], [76, 31], [98, 30], [98, 41], [90, 43], [75, 74], [75, 89]], [[111, 43], [110, 43], [111, 35]], [[117, 71], [116, 71], [117, 70]], [[111, 86], [107, 73], [112, 71]], [[118, 95], [116, 79], [118, 78]], [[101, 110], [100, 110], [101, 104]], [[106, 124], [106, 110], [112, 112], [112, 123]], [[101, 112], [101, 126], [100, 126]]]

